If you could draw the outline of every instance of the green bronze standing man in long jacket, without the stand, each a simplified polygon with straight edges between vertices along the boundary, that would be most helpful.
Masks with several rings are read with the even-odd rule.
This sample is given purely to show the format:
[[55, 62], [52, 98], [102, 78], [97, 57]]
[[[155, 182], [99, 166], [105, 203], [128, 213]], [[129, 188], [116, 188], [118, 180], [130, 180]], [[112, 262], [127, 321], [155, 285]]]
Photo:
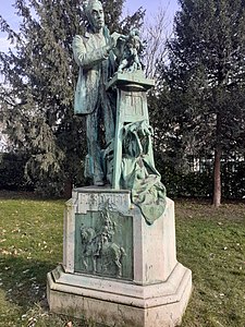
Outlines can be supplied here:
[[[88, 20], [87, 31], [73, 40], [73, 53], [79, 66], [75, 92], [74, 110], [86, 116], [87, 169], [94, 185], [105, 184], [108, 172], [101, 157], [101, 142], [108, 146], [114, 138], [114, 110], [106, 84], [114, 70], [114, 55], [111, 51], [115, 40], [105, 26], [102, 4], [89, 0], [85, 7]], [[103, 137], [101, 136], [103, 126]]]

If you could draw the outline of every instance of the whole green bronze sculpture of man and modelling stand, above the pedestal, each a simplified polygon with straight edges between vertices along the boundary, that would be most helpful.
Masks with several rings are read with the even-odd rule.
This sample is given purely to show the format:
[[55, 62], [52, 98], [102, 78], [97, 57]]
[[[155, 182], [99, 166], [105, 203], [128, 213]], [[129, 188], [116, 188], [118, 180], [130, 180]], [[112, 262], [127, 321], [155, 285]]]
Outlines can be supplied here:
[[86, 14], [88, 28], [73, 40], [79, 65], [74, 109], [86, 117], [85, 175], [97, 186], [131, 190], [154, 223], [164, 211], [166, 189], [154, 162], [146, 92], [155, 82], [142, 70], [143, 43], [137, 29], [110, 35], [99, 1], [90, 1]]

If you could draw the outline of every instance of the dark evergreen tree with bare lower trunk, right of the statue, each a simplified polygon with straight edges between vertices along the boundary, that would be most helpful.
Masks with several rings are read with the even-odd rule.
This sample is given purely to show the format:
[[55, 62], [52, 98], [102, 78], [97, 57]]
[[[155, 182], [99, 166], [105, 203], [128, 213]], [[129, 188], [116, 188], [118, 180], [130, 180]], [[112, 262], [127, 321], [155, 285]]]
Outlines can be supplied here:
[[[220, 205], [223, 155], [244, 148], [245, 3], [180, 0], [170, 64], [162, 76], [182, 146], [215, 154], [213, 204]], [[174, 132], [175, 133], [175, 132]]]

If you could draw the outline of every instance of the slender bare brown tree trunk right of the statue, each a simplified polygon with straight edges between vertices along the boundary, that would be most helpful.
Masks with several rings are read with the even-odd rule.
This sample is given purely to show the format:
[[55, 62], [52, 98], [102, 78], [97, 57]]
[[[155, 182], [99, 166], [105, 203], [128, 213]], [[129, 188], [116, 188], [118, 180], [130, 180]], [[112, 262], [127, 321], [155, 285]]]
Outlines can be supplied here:
[[213, 195], [212, 204], [219, 207], [221, 204], [221, 172], [220, 172], [221, 149], [217, 147], [215, 153], [215, 167], [213, 167]]

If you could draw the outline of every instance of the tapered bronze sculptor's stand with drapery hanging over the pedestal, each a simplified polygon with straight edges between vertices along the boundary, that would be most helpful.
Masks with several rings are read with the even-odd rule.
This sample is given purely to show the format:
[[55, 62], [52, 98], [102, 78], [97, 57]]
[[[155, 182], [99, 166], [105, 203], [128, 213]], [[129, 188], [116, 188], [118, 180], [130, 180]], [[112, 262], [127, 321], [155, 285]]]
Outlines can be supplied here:
[[114, 189], [132, 190], [131, 198], [147, 223], [154, 223], [166, 208], [166, 189], [155, 167], [146, 90], [154, 81], [142, 71], [118, 73], [108, 88], [117, 86], [118, 106], [114, 138]]

